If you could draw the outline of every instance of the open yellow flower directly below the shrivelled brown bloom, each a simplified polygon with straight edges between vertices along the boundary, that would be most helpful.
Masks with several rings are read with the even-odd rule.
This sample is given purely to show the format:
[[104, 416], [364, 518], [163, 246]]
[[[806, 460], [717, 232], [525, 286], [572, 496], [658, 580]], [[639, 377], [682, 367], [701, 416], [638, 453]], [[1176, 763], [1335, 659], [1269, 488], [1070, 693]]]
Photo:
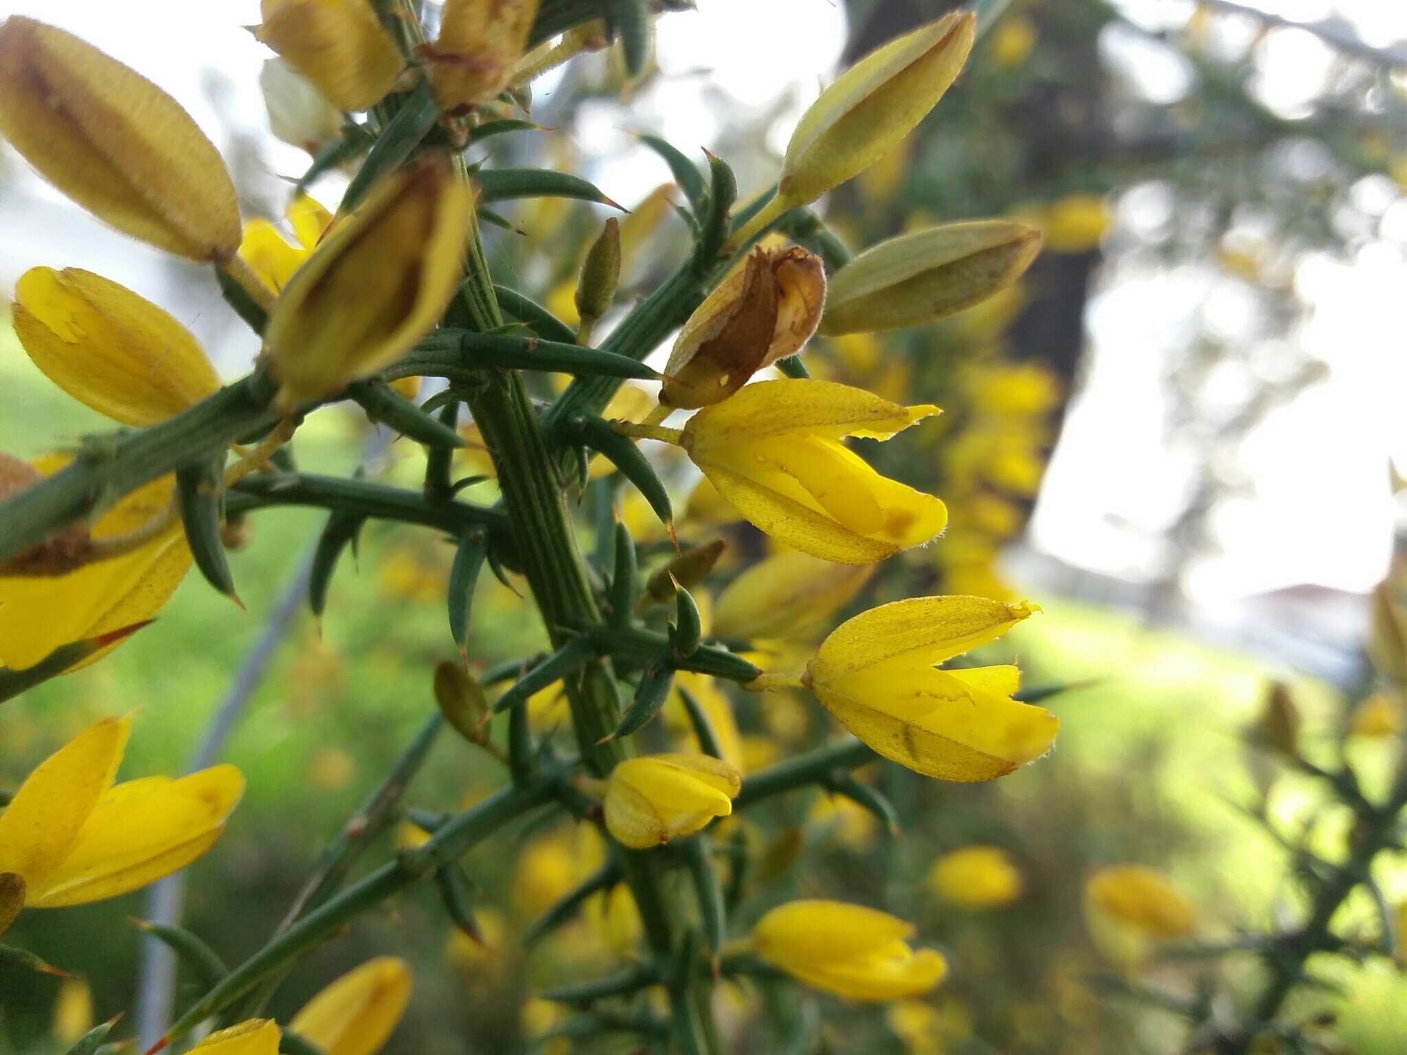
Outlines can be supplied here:
[[680, 443], [718, 492], [778, 542], [872, 564], [929, 542], [943, 502], [879, 475], [846, 436], [889, 439], [937, 414], [833, 381], [761, 381], [689, 418]]

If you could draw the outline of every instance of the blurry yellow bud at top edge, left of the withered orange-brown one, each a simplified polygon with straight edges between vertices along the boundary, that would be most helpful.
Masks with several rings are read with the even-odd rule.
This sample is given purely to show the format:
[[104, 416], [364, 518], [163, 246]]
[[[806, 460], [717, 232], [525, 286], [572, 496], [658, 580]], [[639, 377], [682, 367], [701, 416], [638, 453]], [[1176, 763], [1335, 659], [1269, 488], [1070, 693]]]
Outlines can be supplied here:
[[405, 63], [370, 0], [262, 0], [255, 37], [338, 110], [370, 110]]

